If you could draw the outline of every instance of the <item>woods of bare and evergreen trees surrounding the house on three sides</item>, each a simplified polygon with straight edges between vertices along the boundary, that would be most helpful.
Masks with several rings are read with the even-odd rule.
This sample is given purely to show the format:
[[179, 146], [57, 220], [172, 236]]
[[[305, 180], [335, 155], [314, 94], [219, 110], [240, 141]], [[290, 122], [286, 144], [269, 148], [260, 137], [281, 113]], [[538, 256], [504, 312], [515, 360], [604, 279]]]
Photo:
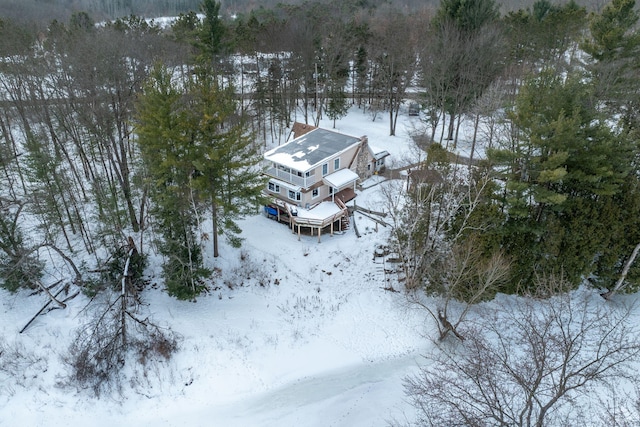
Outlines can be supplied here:
[[[89, 272], [133, 235], [163, 254], [172, 294], [197, 295], [211, 280], [207, 239], [214, 252], [218, 233], [239, 243], [234, 220], [260, 201], [266, 141], [352, 105], [384, 114], [394, 135], [408, 100], [430, 152], [418, 169], [451, 178], [414, 186], [396, 214], [409, 287], [446, 289], [456, 268], [484, 271], [496, 254], [510, 269], [494, 292], [557, 274], [606, 287], [640, 242], [633, 1], [599, 13], [547, 0], [507, 14], [490, 0], [220, 10], [206, 0], [204, 19], [167, 28], [137, 16], [96, 26], [87, 13], [43, 32], [1, 22], [3, 286], [33, 286], [46, 251], [99, 290], [104, 276]], [[463, 122], [472, 151], [488, 149], [468, 174], [444, 161]], [[458, 259], [469, 242], [476, 264]], [[477, 282], [470, 273], [454, 293]]]

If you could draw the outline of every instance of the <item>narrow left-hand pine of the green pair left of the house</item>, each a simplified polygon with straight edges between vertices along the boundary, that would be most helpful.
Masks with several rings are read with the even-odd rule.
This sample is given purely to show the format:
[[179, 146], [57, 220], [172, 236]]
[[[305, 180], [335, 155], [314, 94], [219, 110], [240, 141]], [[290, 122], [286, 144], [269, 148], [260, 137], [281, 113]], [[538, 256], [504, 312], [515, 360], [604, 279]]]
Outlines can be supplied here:
[[162, 234], [163, 277], [170, 295], [192, 298], [208, 274], [196, 240], [191, 178], [198, 152], [189, 129], [189, 109], [172, 75], [156, 67], [137, 105], [138, 144], [149, 177], [152, 214]]

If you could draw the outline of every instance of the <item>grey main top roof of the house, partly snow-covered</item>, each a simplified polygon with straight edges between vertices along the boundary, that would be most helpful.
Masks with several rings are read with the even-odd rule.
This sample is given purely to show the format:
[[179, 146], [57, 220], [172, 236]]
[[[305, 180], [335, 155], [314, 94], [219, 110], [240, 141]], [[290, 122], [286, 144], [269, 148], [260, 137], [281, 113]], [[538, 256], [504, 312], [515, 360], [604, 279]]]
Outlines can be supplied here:
[[361, 139], [355, 136], [317, 128], [267, 151], [264, 158], [304, 172], [360, 143]]

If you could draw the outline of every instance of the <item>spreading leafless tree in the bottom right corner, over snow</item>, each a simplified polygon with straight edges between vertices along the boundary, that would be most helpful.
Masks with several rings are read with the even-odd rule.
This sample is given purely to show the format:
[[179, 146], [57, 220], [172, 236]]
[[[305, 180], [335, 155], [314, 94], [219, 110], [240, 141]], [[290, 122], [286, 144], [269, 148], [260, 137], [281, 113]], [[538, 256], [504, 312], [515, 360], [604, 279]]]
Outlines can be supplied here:
[[[597, 293], [566, 289], [561, 279], [537, 287], [553, 295], [504, 297], [465, 323], [460, 346], [441, 343], [405, 380], [419, 425], [586, 425], [581, 404], [596, 386], [637, 380], [640, 354], [632, 307]], [[599, 424], [598, 424], [599, 425]]]

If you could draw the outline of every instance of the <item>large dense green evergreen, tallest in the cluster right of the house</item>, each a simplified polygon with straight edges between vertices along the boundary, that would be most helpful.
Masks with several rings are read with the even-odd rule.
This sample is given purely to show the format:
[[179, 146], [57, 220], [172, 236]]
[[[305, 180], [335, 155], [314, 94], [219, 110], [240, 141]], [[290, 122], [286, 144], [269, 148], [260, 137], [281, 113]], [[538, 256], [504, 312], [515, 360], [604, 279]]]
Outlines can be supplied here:
[[618, 203], [632, 144], [610, 129], [581, 75], [551, 70], [530, 79], [511, 119], [514, 140], [489, 156], [504, 182], [495, 192], [504, 214], [495, 230], [514, 258], [513, 284], [549, 274], [578, 284], [596, 270], [615, 221], [599, 213], [625, 209]]

